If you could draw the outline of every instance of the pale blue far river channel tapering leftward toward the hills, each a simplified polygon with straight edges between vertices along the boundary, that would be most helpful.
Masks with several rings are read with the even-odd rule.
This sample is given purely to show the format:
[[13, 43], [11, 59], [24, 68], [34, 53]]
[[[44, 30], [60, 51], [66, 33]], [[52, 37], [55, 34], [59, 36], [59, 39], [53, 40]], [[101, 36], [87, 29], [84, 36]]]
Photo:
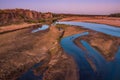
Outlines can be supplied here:
[[98, 32], [102, 32], [111, 36], [120, 37], [120, 28], [105, 25], [105, 24], [96, 24], [96, 23], [87, 23], [87, 22], [56, 22], [56, 24], [67, 24], [67, 25], [75, 25], [75, 26], [81, 26], [83, 28], [88, 28], [91, 30], [95, 30]]

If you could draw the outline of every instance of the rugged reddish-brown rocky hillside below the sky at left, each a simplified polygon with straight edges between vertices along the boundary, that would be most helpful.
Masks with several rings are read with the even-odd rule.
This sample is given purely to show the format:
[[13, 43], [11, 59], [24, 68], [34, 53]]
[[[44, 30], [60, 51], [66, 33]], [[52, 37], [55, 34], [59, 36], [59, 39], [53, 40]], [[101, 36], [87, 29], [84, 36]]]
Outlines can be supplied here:
[[20, 22], [39, 22], [52, 17], [53, 15], [50, 12], [41, 13], [28, 9], [5, 9], [0, 10], [0, 25]]

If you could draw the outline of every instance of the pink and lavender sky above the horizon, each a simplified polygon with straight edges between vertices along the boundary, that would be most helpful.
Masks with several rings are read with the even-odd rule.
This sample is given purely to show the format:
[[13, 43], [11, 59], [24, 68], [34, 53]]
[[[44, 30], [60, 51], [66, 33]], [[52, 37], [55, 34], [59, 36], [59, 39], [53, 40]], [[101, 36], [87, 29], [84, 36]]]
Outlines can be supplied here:
[[120, 0], [0, 0], [0, 9], [7, 8], [55, 13], [110, 14], [120, 12]]

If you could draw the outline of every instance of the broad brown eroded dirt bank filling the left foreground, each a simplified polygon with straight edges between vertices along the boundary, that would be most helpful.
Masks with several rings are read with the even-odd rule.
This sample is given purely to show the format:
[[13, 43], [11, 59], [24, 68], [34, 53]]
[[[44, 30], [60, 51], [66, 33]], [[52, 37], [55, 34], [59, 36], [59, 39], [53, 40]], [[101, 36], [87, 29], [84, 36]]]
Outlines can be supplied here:
[[15, 80], [34, 64], [44, 64], [34, 70], [43, 80], [77, 80], [77, 67], [72, 57], [59, 45], [62, 31], [54, 26], [46, 31], [31, 33], [26, 28], [0, 35], [0, 79]]

